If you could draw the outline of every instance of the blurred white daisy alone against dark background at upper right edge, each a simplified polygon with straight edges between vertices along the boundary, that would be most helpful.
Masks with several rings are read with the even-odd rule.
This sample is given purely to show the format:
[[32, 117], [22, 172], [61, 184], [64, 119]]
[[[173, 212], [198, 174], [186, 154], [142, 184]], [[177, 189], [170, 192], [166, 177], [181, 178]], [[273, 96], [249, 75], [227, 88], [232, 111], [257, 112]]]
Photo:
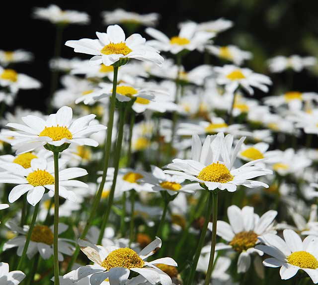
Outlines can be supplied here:
[[279, 55], [268, 60], [268, 68], [273, 73], [283, 72], [289, 68], [295, 72], [300, 72], [305, 68], [314, 66], [316, 62], [317, 59], [313, 56], [292, 55], [285, 57]]

